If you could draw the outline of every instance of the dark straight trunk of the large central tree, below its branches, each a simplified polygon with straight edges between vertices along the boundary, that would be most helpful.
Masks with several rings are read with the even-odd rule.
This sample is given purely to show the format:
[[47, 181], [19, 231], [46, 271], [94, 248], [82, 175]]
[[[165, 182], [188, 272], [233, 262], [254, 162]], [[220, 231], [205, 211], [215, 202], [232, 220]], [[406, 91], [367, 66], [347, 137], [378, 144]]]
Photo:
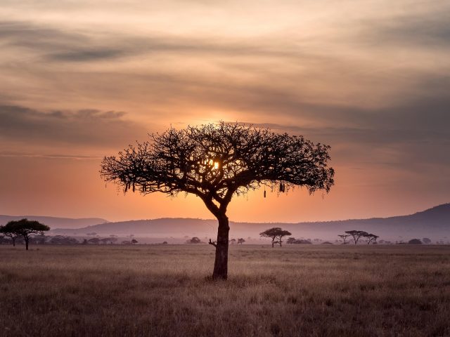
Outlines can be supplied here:
[[217, 217], [219, 228], [217, 229], [216, 260], [214, 261], [213, 279], [226, 279], [228, 277], [228, 235], [230, 226], [225, 214]]

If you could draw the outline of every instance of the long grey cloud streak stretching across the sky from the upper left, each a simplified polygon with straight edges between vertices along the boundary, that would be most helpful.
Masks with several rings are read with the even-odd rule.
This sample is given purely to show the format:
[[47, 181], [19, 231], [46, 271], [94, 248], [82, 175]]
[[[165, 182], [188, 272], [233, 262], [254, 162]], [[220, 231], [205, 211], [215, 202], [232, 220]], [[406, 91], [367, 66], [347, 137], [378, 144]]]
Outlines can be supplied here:
[[238, 41], [162, 35], [83, 34], [27, 22], [0, 22], [0, 41], [7, 46], [27, 48], [54, 62], [92, 62], [153, 53], [214, 54], [236, 57], [252, 55], [282, 58], [317, 58], [299, 48], [278, 45], [276, 40]]

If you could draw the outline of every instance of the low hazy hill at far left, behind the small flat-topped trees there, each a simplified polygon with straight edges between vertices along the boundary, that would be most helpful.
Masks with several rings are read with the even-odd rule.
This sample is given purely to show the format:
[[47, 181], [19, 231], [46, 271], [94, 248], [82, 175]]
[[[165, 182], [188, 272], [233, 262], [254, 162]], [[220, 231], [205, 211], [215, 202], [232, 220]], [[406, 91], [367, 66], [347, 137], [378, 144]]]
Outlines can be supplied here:
[[56, 218], [53, 216], [1, 216], [0, 215], [0, 225], [5, 225], [11, 220], [20, 220], [27, 218], [28, 220], [37, 220], [39, 223], [44, 223], [53, 228], [79, 228], [86, 227], [90, 225], [97, 225], [98, 223], [107, 223], [108, 220], [101, 218], [81, 218], [81, 219], [71, 219], [71, 218]]

